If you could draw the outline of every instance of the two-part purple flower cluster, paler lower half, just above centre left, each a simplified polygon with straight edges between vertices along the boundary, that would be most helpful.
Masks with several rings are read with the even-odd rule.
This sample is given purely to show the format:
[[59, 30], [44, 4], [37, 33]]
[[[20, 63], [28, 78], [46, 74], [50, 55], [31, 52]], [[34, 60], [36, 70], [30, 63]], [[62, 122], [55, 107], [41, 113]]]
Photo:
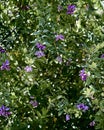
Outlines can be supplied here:
[[46, 46], [44, 46], [44, 45], [42, 45], [42, 44], [40, 44], [40, 43], [37, 43], [37, 44], [36, 44], [36, 47], [39, 49], [39, 51], [36, 51], [36, 52], [35, 52], [35, 55], [36, 55], [38, 58], [45, 56], [43, 50], [45, 50]]

